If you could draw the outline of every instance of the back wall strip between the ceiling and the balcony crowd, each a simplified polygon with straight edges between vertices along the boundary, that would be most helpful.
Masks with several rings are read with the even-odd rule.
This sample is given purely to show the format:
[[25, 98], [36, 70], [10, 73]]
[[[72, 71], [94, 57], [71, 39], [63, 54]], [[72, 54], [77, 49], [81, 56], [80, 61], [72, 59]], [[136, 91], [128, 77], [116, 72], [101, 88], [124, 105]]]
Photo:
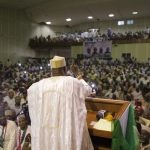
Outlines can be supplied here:
[[[132, 18], [129, 18], [132, 19]], [[126, 31], [140, 31], [140, 30], [146, 30], [146, 27], [150, 28], [150, 17], [146, 18], [139, 18], [139, 19], [133, 19], [134, 24], [133, 25], [127, 25], [128, 19], [121, 19], [125, 21], [124, 26], [118, 26], [117, 21], [118, 20], [110, 20], [110, 21], [89, 21], [86, 23], [82, 23], [79, 25], [74, 25], [71, 27], [66, 26], [52, 26], [52, 25], [35, 25], [34, 31], [32, 33], [32, 36], [48, 36], [51, 35], [52, 37], [56, 36], [55, 33], [57, 32], [75, 32], [75, 31], [87, 31], [89, 28], [100, 28], [101, 33], [107, 33], [107, 29], [111, 28], [113, 32], [126, 32]]]

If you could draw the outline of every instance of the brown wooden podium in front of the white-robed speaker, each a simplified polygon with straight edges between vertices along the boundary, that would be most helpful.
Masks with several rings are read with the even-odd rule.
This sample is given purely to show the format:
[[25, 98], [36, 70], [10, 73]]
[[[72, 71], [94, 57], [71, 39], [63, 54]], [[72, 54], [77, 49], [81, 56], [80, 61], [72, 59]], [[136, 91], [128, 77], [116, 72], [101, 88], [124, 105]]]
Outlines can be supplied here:
[[93, 128], [91, 122], [97, 121], [96, 114], [99, 110], [114, 112], [114, 120], [123, 120], [122, 128], [126, 133], [127, 121], [123, 117], [128, 115], [130, 103], [123, 100], [111, 100], [101, 98], [86, 98], [87, 126], [95, 150], [111, 150], [112, 131], [97, 130]]

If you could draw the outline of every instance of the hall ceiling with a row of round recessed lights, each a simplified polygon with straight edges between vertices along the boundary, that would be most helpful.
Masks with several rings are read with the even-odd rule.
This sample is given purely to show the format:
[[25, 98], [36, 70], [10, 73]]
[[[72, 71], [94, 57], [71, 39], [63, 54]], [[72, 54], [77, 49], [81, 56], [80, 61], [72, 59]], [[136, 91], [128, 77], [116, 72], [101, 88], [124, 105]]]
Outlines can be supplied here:
[[[0, 7], [25, 10], [35, 22], [51, 21], [53, 25], [76, 25], [93, 20], [150, 17], [150, 0], [0, 0]], [[133, 15], [133, 11], [139, 14]], [[113, 13], [115, 17], [109, 18]], [[72, 18], [66, 22], [66, 18]], [[92, 20], [92, 21], [93, 21]]]

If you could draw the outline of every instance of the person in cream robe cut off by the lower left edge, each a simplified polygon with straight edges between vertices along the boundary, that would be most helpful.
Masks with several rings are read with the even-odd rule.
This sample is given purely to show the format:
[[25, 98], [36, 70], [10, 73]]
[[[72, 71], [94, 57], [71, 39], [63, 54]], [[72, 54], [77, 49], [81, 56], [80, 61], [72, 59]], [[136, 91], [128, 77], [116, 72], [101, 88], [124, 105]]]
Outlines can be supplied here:
[[6, 120], [4, 108], [0, 107], [0, 150], [15, 150], [16, 130], [15, 122]]

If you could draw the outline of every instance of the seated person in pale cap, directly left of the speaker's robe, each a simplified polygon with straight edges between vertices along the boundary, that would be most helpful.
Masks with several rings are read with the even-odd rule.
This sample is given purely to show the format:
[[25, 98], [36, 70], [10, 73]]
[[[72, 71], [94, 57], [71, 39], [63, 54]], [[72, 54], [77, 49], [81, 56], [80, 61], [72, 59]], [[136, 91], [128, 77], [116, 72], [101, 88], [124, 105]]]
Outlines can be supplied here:
[[31, 127], [23, 114], [18, 116], [16, 150], [31, 150]]

